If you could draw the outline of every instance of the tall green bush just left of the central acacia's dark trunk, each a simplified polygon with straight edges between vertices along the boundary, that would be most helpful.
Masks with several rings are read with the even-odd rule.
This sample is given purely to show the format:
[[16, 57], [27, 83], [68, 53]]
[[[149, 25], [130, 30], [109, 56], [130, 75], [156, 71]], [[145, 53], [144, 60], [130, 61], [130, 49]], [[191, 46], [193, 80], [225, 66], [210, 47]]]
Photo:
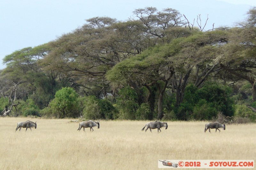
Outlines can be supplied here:
[[118, 92], [115, 107], [119, 111], [118, 118], [126, 120], [135, 120], [136, 111], [139, 107], [138, 95], [131, 87], [124, 87]]

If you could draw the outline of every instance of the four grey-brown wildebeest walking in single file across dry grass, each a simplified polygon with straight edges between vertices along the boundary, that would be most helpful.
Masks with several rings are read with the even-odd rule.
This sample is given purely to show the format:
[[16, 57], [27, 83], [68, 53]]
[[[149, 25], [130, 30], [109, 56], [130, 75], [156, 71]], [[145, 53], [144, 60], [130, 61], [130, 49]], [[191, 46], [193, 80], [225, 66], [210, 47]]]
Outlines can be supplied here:
[[[90, 128], [90, 131], [93, 131], [92, 127], [97, 127], [98, 129], [100, 129], [100, 122], [95, 122], [95, 121], [84, 121], [84, 122], [80, 122], [79, 123], [79, 128], [77, 129], [78, 131], [80, 131], [82, 128], [84, 129], [85, 132], [85, 128]], [[168, 125], [167, 122], [161, 122], [161, 121], [155, 121], [155, 122], [148, 122], [146, 123], [146, 125], [144, 126], [144, 128], [142, 128], [141, 130], [143, 131], [145, 128], [145, 132], [147, 132], [147, 130], [149, 129], [150, 132], [152, 133], [151, 129], [157, 129], [157, 133], [161, 132], [161, 128], [165, 127], [165, 129], [167, 129]], [[29, 128], [31, 130], [31, 128], [35, 128], [36, 129], [36, 122], [32, 122], [32, 121], [26, 121], [26, 122], [19, 122], [17, 123], [17, 128], [15, 130], [15, 132], [18, 129], [21, 128]], [[217, 132], [217, 129], [220, 132], [219, 128], [223, 128], [224, 130], [226, 129], [225, 124], [221, 124], [219, 122], [212, 122], [212, 123], [207, 123], [205, 124], [205, 128], [204, 128], [204, 133], [209, 129], [209, 132], [211, 133], [210, 129], [216, 129], [215, 132]], [[159, 132], [160, 130], [160, 132]], [[20, 130], [19, 130], [20, 131]], [[31, 130], [32, 131], [32, 130]]]

